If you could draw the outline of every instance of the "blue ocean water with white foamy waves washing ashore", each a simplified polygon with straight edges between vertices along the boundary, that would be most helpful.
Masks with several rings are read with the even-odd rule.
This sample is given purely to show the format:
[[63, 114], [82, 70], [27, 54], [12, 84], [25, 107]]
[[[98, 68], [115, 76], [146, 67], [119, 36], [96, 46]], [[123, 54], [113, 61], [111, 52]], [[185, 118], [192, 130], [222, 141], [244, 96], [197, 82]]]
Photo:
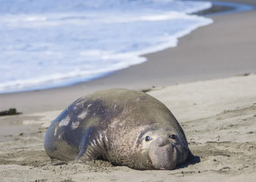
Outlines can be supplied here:
[[209, 2], [0, 0], [0, 93], [91, 80], [177, 46]]

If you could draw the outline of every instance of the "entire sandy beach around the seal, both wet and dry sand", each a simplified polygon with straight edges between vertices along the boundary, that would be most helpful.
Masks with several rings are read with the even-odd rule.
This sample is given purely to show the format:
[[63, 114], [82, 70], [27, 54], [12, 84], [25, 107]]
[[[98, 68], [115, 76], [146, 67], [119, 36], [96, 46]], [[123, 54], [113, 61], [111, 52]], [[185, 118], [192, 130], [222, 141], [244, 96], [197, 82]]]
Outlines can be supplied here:
[[[254, 0], [223, 1], [256, 6]], [[0, 117], [0, 181], [255, 180], [256, 10], [211, 18], [213, 24], [180, 38], [177, 47], [144, 55], [143, 64], [68, 87], [0, 94], [0, 111], [23, 112]], [[52, 120], [77, 98], [113, 87], [150, 88], [147, 93], [180, 122], [200, 162], [173, 171], [137, 171], [102, 161], [50, 165], [43, 140]]]

